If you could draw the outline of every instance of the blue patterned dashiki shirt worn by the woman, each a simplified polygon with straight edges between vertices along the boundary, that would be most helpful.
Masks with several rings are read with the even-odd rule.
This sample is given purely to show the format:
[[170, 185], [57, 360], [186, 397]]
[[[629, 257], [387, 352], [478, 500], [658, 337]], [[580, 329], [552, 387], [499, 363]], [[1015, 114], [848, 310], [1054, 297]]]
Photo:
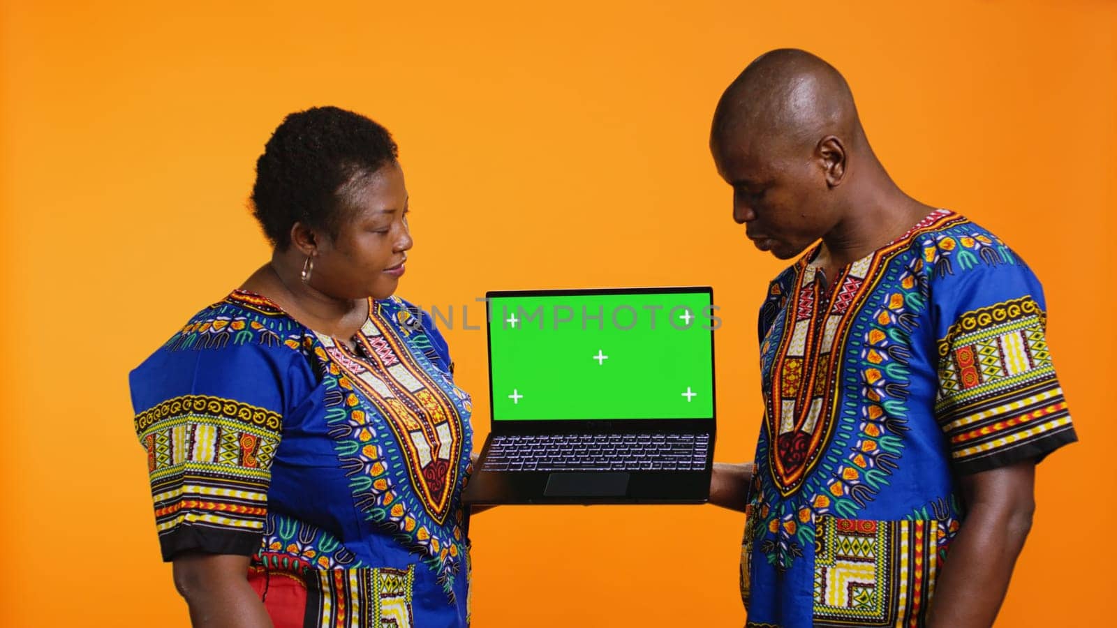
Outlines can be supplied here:
[[470, 399], [426, 313], [369, 310], [353, 351], [237, 291], [132, 372], [163, 560], [252, 556], [277, 627], [467, 626]]

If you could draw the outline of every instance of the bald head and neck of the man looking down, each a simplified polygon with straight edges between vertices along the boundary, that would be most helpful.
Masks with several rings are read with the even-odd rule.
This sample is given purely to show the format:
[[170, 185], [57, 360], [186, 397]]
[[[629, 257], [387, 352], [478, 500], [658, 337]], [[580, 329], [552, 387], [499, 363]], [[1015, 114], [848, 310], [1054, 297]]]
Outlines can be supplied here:
[[872, 154], [841, 74], [802, 50], [748, 64], [717, 103], [709, 148], [733, 219], [780, 259], [822, 239], [827, 259], [849, 264], [930, 210]]

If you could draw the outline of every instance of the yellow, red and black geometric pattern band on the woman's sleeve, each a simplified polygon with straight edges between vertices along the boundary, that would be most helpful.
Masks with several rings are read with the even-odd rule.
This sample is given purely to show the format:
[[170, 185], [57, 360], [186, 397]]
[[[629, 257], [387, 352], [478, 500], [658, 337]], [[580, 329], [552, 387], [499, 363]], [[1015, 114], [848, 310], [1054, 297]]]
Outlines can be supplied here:
[[[207, 530], [258, 536], [280, 424], [277, 412], [201, 394], [175, 397], [136, 415], [164, 559], [183, 549], [230, 551], [227, 540], [208, 546]], [[185, 529], [198, 533], [191, 534], [191, 548], [168, 546]], [[255, 549], [249, 541], [246, 553]]]

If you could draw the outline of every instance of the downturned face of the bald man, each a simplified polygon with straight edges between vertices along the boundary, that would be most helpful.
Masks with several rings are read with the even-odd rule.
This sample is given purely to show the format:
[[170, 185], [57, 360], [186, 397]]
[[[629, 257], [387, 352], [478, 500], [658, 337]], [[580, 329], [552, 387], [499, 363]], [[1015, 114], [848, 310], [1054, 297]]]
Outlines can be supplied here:
[[743, 131], [713, 137], [714, 163], [733, 187], [733, 219], [748, 239], [791, 259], [834, 227], [824, 172], [811, 149], [754, 137]]

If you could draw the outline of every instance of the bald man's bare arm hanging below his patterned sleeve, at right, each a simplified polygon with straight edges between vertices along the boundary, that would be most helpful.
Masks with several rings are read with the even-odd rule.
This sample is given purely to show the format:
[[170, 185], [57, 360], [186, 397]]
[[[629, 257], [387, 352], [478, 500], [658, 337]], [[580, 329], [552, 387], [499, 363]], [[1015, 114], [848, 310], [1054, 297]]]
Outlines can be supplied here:
[[993, 625], [1035, 510], [1032, 460], [961, 478], [967, 513], [938, 574], [927, 626]]

